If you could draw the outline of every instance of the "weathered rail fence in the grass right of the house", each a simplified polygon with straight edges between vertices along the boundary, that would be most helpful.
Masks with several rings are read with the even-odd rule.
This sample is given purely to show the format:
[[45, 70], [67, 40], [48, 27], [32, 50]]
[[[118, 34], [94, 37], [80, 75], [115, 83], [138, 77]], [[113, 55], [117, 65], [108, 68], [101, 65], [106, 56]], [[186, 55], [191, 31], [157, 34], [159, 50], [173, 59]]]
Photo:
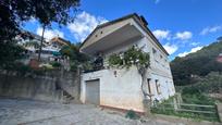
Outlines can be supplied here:
[[217, 105], [188, 104], [188, 103], [161, 103], [151, 107], [152, 113], [176, 115], [207, 121], [219, 121]]

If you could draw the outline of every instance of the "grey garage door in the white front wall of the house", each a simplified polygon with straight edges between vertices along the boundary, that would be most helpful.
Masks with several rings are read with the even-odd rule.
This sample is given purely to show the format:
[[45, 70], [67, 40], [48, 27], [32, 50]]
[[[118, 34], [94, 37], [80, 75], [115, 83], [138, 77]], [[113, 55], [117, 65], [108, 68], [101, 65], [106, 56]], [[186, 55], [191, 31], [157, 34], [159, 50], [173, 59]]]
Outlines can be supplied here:
[[86, 82], [86, 103], [99, 105], [99, 79]]

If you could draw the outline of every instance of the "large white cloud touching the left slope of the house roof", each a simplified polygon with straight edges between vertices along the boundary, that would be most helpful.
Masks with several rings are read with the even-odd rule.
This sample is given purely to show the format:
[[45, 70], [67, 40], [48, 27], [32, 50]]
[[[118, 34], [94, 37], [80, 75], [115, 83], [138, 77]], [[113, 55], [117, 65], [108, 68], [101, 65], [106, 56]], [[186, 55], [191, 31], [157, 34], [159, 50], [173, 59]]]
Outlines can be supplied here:
[[67, 25], [71, 33], [78, 41], [84, 41], [86, 37], [96, 28], [97, 25], [108, 22], [101, 16], [95, 16], [87, 12], [77, 14], [74, 23]]

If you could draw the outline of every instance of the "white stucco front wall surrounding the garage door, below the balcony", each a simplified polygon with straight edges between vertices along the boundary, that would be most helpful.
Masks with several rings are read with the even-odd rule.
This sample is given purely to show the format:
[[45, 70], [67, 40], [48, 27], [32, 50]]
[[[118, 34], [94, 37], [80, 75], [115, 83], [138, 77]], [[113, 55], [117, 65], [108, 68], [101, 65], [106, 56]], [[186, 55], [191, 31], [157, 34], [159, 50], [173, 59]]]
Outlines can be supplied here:
[[[116, 75], [114, 75], [116, 72]], [[82, 75], [81, 100], [85, 103], [85, 86], [90, 79], [100, 79], [100, 105], [144, 112], [141, 78], [136, 67], [131, 70], [101, 70]]]

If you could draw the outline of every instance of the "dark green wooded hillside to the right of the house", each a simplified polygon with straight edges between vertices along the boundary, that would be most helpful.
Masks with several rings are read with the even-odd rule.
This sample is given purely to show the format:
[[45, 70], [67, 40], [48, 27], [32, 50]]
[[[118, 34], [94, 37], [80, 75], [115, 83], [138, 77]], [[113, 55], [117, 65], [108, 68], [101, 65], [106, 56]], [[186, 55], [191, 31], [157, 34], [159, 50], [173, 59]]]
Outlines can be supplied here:
[[218, 62], [222, 53], [222, 38], [201, 50], [171, 62], [171, 70], [176, 86], [193, 85], [212, 72], [222, 73], [222, 63]]

